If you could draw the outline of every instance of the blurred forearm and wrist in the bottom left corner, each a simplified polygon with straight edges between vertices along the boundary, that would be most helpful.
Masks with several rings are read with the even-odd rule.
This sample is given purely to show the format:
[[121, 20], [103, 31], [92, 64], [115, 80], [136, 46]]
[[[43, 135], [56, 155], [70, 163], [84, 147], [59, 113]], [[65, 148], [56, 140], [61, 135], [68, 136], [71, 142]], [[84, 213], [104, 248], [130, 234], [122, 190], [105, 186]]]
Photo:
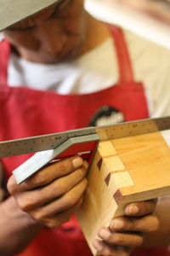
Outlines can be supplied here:
[[0, 255], [20, 253], [42, 226], [20, 210], [13, 197], [0, 204]]

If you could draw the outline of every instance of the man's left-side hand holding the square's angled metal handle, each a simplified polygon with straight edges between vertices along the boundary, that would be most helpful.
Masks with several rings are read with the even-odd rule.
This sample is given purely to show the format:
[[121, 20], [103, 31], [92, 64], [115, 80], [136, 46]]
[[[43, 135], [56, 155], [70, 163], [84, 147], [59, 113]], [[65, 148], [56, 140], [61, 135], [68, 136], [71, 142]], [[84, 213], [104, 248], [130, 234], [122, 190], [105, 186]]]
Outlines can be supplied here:
[[8, 191], [19, 207], [38, 223], [59, 226], [80, 207], [87, 187], [88, 163], [81, 157], [59, 160], [17, 185], [8, 180]]

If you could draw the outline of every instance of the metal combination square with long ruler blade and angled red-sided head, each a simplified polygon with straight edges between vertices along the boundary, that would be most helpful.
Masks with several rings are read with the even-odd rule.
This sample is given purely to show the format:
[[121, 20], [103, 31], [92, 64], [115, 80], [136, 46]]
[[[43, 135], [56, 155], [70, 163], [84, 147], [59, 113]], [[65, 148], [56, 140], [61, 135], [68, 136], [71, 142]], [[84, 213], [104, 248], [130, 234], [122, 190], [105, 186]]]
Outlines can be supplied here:
[[163, 130], [170, 130], [170, 116], [20, 138], [0, 142], [0, 158], [38, 152], [14, 170], [17, 183], [21, 183], [57, 156], [60, 159], [74, 154], [89, 154], [88, 159], [92, 160], [99, 141]]

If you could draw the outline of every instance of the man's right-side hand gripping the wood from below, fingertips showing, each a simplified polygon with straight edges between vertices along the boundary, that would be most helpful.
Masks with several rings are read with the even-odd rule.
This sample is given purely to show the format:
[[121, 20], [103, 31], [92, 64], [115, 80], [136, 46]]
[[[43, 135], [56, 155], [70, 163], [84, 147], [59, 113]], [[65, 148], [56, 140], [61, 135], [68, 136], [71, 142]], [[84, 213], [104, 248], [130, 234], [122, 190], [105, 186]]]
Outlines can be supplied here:
[[98, 253], [105, 256], [127, 256], [134, 247], [141, 246], [144, 233], [158, 230], [159, 220], [151, 214], [155, 207], [156, 200], [127, 205], [125, 216], [112, 219], [109, 228], [99, 229], [100, 239], [94, 240]]

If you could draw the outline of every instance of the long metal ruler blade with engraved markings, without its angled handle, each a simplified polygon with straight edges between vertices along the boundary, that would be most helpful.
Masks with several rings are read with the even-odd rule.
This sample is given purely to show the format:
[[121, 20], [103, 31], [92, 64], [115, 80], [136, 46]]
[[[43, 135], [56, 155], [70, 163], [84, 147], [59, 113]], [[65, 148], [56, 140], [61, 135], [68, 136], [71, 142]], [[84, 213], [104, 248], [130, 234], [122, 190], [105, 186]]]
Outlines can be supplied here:
[[110, 126], [88, 127], [38, 137], [0, 142], [0, 158], [57, 148], [70, 137], [98, 133], [101, 141], [170, 129], [170, 117], [143, 119]]

